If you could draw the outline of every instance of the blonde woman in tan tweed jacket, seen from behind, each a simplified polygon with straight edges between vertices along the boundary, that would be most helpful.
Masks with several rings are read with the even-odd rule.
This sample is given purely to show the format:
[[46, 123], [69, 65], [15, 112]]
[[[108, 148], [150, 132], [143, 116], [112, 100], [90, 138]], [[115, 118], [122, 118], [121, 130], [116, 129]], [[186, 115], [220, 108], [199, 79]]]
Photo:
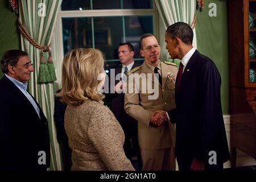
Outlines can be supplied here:
[[64, 57], [63, 89], [58, 96], [68, 105], [65, 130], [72, 149], [72, 170], [134, 170], [123, 151], [122, 127], [103, 105], [99, 88], [104, 80], [100, 50], [78, 48]]

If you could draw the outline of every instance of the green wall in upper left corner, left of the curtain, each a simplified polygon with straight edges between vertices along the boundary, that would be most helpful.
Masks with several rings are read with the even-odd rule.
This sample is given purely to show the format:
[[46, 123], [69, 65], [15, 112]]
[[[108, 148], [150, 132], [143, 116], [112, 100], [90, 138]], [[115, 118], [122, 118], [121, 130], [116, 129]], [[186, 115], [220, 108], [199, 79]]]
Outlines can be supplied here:
[[[9, 49], [21, 49], [17, 15], [11, 11], [9, 1], [0, 1], [0, 57]], [[3, 73], [0, 69], [0, 78]]]

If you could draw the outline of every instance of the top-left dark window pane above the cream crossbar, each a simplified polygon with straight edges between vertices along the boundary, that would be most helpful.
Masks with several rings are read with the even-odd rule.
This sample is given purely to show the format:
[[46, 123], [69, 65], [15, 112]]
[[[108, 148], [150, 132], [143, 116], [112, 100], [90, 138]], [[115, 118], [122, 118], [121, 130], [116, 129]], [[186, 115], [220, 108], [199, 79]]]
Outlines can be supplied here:
[[61, 10], [90, 10], [90, 0], [63, 0]]

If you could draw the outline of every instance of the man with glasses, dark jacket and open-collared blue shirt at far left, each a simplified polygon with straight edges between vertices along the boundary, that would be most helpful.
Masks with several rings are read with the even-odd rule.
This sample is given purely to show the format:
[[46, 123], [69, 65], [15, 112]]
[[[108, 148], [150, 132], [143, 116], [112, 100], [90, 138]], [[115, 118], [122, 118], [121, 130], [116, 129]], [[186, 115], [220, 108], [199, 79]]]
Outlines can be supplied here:
[[27, 92], [33, 65], [27, 53], [5, 52], [0, 80], [0, 170], [46, 170], [49, 167], [47, 119]]

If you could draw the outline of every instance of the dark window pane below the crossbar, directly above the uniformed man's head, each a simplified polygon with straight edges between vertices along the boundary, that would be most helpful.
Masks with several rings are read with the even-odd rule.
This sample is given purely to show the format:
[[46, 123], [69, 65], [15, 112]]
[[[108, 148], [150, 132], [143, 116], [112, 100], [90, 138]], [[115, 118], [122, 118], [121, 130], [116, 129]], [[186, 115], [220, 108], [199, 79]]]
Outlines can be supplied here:
[[125, 39], [126, 42], [129, 42], [134, 46], [134, 58], [142, 58], [139, 53], [139, 39], [141, 39], [141, 36], [146, 33], [154, 33], [152, 16], [125, 17]]

